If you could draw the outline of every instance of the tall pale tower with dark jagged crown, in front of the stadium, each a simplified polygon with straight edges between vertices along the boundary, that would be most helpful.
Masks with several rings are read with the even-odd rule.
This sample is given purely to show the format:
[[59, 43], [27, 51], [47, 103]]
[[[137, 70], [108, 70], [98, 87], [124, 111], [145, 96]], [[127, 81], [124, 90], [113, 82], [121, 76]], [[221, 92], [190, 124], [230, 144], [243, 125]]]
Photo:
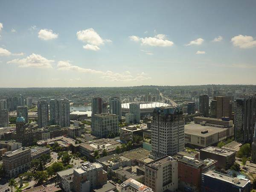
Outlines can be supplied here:
[[151, 121], [151, 155], [154, 159], [184, 150], [184, 119], [181, 108], [155, 108]]

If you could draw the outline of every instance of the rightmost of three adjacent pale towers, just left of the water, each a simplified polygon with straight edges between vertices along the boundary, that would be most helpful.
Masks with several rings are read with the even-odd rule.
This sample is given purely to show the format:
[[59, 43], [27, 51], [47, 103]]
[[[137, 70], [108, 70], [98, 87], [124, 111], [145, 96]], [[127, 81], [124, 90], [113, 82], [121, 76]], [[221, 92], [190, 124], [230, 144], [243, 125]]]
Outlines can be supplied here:
[[61, 127], [70, 126], [70, 103], [68, 99], [60, 100], [60, 110], [59, 110], [59, 125]]

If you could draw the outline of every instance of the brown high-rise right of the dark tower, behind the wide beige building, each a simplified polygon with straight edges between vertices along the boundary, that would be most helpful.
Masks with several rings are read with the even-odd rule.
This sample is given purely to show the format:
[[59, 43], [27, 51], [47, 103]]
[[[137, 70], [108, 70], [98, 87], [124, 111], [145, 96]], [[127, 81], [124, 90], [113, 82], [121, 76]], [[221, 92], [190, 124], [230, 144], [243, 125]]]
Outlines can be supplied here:
[[221, 117], [230, 117], [232, 114], [232, 99], [230, 96], [214, 96], [216, 100], [216, 118], [221, 119]]

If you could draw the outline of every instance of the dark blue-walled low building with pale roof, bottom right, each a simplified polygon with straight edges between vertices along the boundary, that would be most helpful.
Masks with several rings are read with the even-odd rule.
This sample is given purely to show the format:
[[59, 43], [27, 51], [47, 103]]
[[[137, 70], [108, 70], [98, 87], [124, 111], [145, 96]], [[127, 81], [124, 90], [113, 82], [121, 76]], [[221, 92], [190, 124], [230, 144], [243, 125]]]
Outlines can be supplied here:
[[250, 192], [250, 180], [231, 177], [214, 170], [202, 174], [201, 192]]

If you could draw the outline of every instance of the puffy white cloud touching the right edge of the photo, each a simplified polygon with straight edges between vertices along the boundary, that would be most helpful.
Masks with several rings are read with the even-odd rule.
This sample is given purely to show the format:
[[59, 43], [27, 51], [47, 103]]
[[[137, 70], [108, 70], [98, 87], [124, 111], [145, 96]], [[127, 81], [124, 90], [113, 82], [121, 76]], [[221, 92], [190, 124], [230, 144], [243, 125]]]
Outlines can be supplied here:
[[253, 39], [252, 36], [237, 35], [231, 39], [231, 42], [235, 47], [242, 49], [256, 47], [256, 39]]

